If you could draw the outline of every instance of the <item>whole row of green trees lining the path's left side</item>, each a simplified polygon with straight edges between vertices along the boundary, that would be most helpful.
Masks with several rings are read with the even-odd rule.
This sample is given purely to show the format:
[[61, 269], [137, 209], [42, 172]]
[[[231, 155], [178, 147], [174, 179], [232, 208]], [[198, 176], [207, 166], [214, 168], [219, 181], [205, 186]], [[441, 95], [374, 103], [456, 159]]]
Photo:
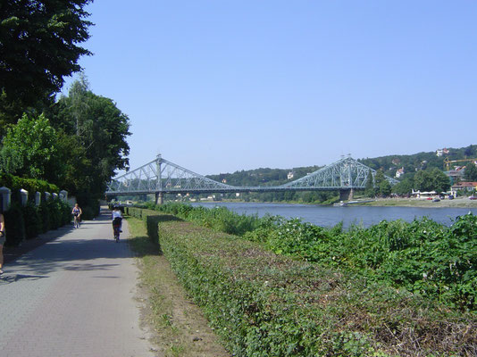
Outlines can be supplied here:
[[0, 3], [0, 174], [45, 179], [96, 206], [114, 170], [127, 169], [129, 118], [80, 75], [91, 0]]

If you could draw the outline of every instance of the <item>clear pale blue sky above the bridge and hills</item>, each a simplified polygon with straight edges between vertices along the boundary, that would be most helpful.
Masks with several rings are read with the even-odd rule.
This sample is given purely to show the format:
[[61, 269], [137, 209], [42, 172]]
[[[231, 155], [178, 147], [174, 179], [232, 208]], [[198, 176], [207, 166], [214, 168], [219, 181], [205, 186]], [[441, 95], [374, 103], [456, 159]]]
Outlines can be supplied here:
[[[477, 144], [477, 2], [96, 0], [79, 64], [130, 169], [292, 169]], [[73, 76], [67, 79], [67, 93]]]

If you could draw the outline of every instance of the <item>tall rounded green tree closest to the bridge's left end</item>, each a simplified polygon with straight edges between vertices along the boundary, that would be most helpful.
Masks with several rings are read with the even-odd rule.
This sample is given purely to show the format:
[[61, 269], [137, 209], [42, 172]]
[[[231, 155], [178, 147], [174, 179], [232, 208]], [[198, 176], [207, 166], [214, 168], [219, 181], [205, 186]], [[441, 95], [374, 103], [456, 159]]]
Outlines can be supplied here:
[[129, 167], [128, 116], [113, 100], [92, 93], [84, 77], [72, 84], [68, 96], [54, 105], [50, 115], [55, 128], [73, 138], [69, 144], [73, 145], [72, 159], [78, 157], [83, 162], [75, 174], [71, 172], [71, 178], [82, 177], [84, 181], [76, 182], [71, 191], [100, 198], [115, 170]]

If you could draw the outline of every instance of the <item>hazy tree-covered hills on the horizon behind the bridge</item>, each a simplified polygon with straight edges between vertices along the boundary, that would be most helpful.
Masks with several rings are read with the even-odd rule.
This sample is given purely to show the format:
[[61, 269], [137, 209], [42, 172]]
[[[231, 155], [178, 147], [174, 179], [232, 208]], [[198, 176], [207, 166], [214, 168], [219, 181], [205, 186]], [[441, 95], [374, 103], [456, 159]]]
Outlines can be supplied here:
[[[442, 148], [443, 149], [443, 148]], [[447, 153], [447, 154], [445, 154]], [[417, 170], [438, 168], [444, 170], [444, 160], [462, 160], [465, 158], [477, 158], [477, 145], [469, 145], [461, 148], [447, 148], [441, 156], [436, 151], [410, 155], [387, 155], [376, 158], [357, 159], [358, 162], [371, 167], [373, 170], [384, 170], [384, 173], [394, 177], [396, 171], [404, 167], [406, 176], [414, 175]], [[459, 163], [456, 163], [458, 165]], [[465, 162], [460, 162], [464, 165]], [[234, 173], [221, 173], [208, 175], [207, 178], [219, 182], [226, 182], [232, 186], [275, 186], [286, 182], [300, 179], [307, 173], [320, 169], [320, 166], [298, 167], [293, 169], [255, 169], [240, 170]], [[293, 178], [288, 179], [289, 172]]]

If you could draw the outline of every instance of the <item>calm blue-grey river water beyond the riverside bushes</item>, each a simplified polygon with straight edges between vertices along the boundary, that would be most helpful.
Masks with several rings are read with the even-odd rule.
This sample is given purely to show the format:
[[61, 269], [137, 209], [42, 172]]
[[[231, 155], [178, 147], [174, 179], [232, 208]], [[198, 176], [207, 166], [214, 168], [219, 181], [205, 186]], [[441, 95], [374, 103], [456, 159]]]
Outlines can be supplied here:
[[343, 222], [347, 228], [352, 224], [364, 227], [372, 226], [381, 220], [406, 220], [428, 217], [439, 223], [450, 226], [457, 216], [468, 212], [477, 214], [476, 208], [420, 208], [420, 207], [375, 207], [375, 206], [319, 206], [313, 204], [291, 203], [194, 203], [213, 208], [226, 207], [239, 214], [279, 215], [286, 218], [301, 218], [318, 226], [332, 227]]

